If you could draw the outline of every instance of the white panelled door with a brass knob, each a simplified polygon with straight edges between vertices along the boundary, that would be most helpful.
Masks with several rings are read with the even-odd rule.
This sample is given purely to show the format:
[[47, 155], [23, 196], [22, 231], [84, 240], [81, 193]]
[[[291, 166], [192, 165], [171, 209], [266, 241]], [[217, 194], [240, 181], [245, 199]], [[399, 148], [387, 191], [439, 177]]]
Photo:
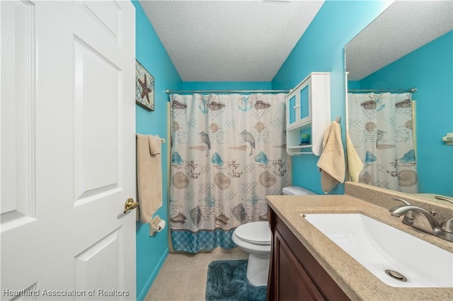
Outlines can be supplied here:
[[0, 299], [133, 300], [134, 7], [0, 12]]

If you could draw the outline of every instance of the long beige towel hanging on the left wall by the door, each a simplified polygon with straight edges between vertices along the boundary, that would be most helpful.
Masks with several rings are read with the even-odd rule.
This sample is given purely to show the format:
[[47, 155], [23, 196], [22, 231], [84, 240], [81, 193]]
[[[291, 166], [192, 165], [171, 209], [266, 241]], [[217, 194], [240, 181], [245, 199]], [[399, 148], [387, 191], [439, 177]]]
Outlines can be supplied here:
[[150, 223], [153, 214], [162, 206], [161, 139], [159, 137], [137, 134], [137, 198], [140, 221]]

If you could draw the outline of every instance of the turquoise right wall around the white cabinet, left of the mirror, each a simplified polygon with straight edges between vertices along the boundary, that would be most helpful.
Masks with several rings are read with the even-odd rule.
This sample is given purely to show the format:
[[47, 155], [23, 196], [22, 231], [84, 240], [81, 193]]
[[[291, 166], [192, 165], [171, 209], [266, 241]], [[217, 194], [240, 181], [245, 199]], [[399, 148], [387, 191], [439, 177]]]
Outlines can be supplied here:
[[[389, 1], [326, 1], [273, 78], [273, 89], [286, 90], [293, 88], [310, 72], [331, 72], [331, 119], [341, 117], [343, 142], [344, 47], [389, 4]], [[293, 156], [292, 184], [321, 194], [321, 174], [316, 167], [318, 159], [315, 155]], [[343, 194], [343, 191], [344, 186], [338, 185], [331, 193]]]

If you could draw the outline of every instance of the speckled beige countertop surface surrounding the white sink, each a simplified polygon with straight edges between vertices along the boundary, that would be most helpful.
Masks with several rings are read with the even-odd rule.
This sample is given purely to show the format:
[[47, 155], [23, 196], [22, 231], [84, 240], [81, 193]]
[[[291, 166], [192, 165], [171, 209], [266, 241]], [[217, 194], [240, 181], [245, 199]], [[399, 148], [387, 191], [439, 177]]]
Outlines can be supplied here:
[[267, 196], [268, 204], [351, 300], [453, 300], [453, 288], [394, 288], [323, 235], [301, 213], [362, 213], [453, 253], [453, 243], [425, 234], [390, 216], [388, 208], [348, 194]]

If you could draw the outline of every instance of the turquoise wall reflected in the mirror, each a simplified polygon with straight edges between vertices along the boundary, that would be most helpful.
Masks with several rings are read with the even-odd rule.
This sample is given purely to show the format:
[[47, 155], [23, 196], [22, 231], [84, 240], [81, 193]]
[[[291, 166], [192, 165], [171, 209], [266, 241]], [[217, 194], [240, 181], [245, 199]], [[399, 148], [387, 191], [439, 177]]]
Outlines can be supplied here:
[[417, 169], [420, 193], [453, 196], [453, 31], [360, 81], [360, 88], [417, 88]]

